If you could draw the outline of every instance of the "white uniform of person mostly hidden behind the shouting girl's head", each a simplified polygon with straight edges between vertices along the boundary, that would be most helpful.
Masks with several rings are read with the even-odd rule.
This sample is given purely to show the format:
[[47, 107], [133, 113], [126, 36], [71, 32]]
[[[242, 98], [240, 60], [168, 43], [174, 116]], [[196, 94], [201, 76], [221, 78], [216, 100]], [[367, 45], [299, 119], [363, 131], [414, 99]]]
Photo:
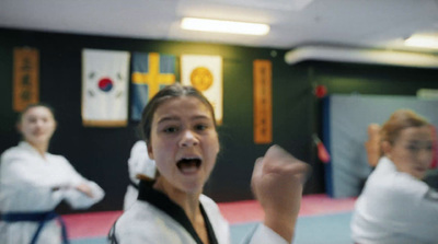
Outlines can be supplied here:
[[143, 140], [137, 141], [130, 150], [128, 160], [128, 172], [130, 184], [126, 189], [124, 210], [127, 210], [136, 200], [138, 196], [138, 174], [146, 175], [150, 178], [155, 176], [155, 161], [149, 159], [148, 148]]

